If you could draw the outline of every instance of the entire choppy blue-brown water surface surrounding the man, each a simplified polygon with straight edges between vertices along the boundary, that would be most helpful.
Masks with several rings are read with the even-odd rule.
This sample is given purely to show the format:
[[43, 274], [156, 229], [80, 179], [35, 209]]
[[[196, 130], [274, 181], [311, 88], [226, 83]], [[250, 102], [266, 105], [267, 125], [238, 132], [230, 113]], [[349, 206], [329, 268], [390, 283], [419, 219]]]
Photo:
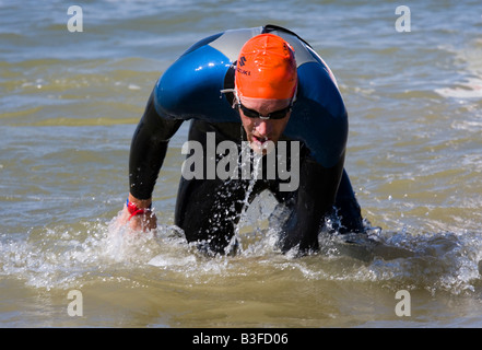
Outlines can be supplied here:
[[[479, 1], [405, 3], [408, 33], [396, 2], [95, 1], [82, 33], [67, 30], [69, 5], [0, 1], [0, 326], [482, 326]], [[201, 255], [173, 226], [187, 125], [154, 192], [157, 232], [115, 226], [155, 80], [196, 40], [267, 23], [337, 75], [369, 240], [322, 233], [319, 254], [281, 255], [263, 195], [236, 256]]]

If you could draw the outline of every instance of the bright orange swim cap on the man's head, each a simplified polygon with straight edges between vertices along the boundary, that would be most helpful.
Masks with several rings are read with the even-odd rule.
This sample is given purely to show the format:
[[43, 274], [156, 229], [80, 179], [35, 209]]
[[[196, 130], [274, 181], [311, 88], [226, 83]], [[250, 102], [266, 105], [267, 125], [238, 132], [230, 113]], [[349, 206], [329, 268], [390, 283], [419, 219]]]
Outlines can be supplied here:
[[296, 84], [296, 60], [290, 44], [273, 34], [260, 34], [246, 42], [235, 73], [240, 97], [289, 100]]

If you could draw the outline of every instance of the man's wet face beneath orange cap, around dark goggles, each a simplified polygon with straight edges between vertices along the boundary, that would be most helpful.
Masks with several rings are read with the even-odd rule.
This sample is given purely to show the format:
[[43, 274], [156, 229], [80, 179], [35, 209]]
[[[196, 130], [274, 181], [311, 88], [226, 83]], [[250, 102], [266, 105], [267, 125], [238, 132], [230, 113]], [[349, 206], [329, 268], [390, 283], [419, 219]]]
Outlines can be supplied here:
[[[242, 103], [246, 108], [256, 110], [262, 116], [267, 116], [270, 113], [287, 107], [291, 101], [245, 97], [242, 98]], [[271, 142], [267, 141], [272, 141], [277, 144], [290, 120], [291, 112], [287, 112], [286, 116], [282, 119], [249, 118], [243, 113], [242, 108], [239, 108], [239, 115], [251, 149], [258, 154], [267, 154], [271, 152], [271, 149], [269, 149]]]

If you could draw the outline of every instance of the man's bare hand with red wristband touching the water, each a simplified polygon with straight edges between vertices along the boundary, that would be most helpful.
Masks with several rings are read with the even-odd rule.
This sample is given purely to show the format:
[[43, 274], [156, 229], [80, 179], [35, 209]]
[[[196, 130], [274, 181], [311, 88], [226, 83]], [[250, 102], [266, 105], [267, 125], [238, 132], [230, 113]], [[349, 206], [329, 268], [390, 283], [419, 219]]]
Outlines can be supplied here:
[[149, 231], [157, 228], [157, 218], [151, 211], [152, 199], [137, 199], [129, 194], [129, 207], [124, 205], [118, 218], [121, 225], [128, 224], [132, 231]]

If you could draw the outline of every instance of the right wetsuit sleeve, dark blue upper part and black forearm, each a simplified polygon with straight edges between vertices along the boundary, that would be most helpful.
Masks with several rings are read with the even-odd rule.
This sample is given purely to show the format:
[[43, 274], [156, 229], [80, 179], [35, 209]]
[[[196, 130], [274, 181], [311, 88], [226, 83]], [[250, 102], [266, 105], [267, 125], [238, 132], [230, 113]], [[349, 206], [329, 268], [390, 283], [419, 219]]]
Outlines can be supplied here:
[[309, 62], [298, 68], [299, 85], [286, 133], [309, 150], [301, 165], [294, 210], [283, 230], [284, 252], [318, 249], [318, 233], [336, 203], [343, 174], [348, 114], [329, 70]]

